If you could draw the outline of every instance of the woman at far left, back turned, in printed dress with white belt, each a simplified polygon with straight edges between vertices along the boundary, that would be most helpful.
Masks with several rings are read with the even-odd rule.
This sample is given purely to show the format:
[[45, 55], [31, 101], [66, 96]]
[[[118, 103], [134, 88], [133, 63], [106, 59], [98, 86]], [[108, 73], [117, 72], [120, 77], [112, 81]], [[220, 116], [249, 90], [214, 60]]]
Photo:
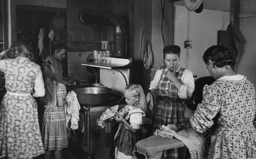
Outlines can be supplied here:
[[44, 96], [44, 81], [39, 65], [32, 62], [30, 48], [16, 42], [0, 61], [5, 88], [0, 110], [0, 156], [31, 159], [44, 153], [38, 124], [37, 104], [33, 96]]

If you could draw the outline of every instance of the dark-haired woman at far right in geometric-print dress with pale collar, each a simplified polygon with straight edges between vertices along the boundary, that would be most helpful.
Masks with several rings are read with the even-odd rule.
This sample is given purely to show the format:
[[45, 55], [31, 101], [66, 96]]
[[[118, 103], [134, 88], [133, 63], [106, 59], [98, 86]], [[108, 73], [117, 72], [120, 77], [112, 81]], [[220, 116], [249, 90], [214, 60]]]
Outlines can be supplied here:
[[[203, 101], [195, 112], [185, 111], [191, 126], [205, 133], [216, 119], [208, 158], [256, 158], [255, 89], [245, 76], [232, 70], [236, 61], [224, 46], [211, 46], [203, 60], [216, 79], [203, 89]], [[214, 120], [213, 120], [214, 118]]]

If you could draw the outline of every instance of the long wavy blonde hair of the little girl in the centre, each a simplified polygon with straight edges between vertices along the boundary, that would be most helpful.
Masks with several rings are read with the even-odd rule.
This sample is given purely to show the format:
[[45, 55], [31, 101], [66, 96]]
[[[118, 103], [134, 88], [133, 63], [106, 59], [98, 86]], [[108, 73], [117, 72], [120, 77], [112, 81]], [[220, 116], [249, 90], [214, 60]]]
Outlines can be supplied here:
[[134, 97], [138, 97], [139, 100], [133, 105], [134, 108], [140, 108], [144, 113], [147, 111], [146, 96], [139, 84], [129, 84], [125, 86], [125, 91], [133, 93]]

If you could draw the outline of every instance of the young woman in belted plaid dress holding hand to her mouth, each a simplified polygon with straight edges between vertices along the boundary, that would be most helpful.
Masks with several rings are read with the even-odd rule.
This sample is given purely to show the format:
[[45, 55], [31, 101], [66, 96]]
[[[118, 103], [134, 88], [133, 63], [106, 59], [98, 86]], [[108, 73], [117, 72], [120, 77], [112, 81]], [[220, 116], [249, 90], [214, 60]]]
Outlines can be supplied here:
[[[180, 47], [167, 45], [163, 49], [165, 69], [157, 70], [150, 83], [150, 90], [156, 102], [153, 130], [162, 125], [181, 124], [188, 122], [183, 113], [187, 108], [184, 99], [189, 99], [194, 91], [193, 74], [186, 68], [179, 66]], [[184, 147], [164, 151], [161, 158], [182, 158]]]

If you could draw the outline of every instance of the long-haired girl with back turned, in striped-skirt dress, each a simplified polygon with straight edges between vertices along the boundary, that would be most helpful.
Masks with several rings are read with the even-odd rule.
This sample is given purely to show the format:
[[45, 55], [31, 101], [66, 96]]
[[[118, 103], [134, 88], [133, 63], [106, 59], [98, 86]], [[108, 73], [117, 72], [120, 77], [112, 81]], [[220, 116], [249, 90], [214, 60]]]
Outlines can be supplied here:
[[41, 64], [46, 95], [41, 98], [45, 104], [42, 137], [45, 158], [50, 158], [50, 152], [54, 151], [55, 159], [61, 159], [61, 150], [68, 147], [67, 128], [64, 105], [67, 92], [66, 86], [61, 83], [60, 71], [54, 67], [53, 61]]

